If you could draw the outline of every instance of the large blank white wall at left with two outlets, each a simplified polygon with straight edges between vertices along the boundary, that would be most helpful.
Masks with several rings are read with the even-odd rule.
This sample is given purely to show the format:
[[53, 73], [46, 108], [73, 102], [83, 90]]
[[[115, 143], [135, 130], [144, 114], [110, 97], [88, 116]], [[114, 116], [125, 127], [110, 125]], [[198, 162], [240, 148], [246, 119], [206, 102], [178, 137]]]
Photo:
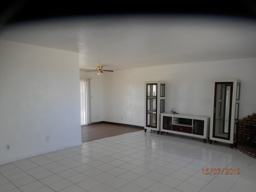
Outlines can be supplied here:
[[0, 164], [80, 144], [79, 55], [0, 40]]

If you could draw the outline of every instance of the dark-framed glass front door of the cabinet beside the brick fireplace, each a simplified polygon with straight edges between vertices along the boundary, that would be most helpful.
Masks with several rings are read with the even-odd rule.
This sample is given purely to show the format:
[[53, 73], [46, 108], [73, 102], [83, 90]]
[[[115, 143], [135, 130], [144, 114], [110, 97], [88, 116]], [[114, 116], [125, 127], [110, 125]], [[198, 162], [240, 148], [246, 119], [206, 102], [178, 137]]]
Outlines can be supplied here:
[[232, 82], [215, 83], [213, 137], [229, 139]]

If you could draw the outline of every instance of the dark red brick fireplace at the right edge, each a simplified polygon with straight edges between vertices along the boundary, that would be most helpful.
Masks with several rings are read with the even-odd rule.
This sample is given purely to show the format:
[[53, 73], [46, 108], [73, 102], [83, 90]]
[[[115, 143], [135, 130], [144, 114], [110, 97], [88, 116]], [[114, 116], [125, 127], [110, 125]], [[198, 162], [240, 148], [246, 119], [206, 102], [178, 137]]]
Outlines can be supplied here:
[[256, 159], [256, 113], [248, 115], [238, 121], [237, 126], [237, 148], [239, 151]]

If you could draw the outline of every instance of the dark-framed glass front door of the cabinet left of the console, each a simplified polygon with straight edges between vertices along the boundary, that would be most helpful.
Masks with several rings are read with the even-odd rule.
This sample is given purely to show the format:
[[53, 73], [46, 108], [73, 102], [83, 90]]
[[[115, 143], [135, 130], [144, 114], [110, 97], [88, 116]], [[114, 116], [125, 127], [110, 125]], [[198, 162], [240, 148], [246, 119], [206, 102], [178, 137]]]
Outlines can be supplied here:
[[157, 127], [157, 83], [147, 83], [146, 122], [147, 127]]

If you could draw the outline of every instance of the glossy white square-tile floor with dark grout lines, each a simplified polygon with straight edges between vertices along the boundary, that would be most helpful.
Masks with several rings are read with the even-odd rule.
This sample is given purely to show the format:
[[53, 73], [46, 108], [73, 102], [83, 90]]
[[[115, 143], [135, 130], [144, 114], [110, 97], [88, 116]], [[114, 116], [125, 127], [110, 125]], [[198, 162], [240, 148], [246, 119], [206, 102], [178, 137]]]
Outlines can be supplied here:
[[2, 165], [0, 192], [7, 191], [256, 192], [256, 159], [227, 144], [142, 130]]

